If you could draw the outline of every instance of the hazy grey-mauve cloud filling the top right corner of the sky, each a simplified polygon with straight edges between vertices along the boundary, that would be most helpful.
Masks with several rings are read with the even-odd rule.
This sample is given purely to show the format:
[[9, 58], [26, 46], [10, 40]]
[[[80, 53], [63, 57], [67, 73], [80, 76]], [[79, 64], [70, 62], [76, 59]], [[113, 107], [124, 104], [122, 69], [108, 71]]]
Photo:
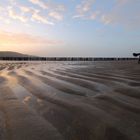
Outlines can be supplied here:
[[102, 13], [101, 22], [126, 28], [138, 28], [140, 27], [139, 5], [139, 0], [117, 0], [112, 10]]

